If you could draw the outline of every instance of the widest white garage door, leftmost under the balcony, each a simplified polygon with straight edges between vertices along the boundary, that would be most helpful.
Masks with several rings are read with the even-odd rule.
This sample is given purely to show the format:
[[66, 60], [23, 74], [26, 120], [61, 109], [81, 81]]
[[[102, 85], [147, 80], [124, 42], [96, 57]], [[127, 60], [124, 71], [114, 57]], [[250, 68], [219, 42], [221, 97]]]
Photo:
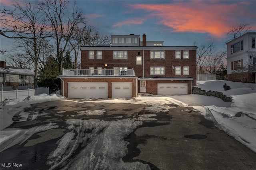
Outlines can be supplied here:
[[108, 98], [108, 83], [68, 83], [68, 98]]

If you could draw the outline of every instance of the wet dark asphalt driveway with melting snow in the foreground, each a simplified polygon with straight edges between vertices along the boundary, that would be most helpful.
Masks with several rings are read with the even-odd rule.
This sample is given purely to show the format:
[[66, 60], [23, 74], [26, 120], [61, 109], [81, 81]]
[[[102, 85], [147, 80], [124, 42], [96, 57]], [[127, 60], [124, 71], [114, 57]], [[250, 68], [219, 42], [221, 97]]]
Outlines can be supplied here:
[[193, 108], [106, 100], [49, 101], [16, 113], [6, 129], [19, 131], [1, 143], [1, 170], [256, 169], [256, 153]]

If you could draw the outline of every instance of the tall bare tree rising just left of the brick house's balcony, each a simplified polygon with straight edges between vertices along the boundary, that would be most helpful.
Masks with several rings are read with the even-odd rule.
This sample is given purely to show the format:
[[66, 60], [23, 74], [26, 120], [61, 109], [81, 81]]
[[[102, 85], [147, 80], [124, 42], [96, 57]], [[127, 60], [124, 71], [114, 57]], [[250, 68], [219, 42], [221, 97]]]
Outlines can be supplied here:
[[78, 9], [76, 2], [74, 2], [71, 11], [68, 10], [69, 4], [70, 2], [62, 0], [45, 0], [40, 3], [40, 10], [44, 12], [46, 20], [51, 25], [60, 72], [64, 58], [70, 53], [68, 50], [70, 39], [77, 26], [85, 22], [83, 13]]

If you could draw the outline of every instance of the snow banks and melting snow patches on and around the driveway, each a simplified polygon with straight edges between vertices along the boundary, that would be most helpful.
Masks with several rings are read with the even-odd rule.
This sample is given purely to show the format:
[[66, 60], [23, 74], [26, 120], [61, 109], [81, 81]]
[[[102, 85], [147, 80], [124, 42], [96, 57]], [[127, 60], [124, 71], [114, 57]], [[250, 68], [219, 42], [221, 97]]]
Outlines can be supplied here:
[[[227, 85], [230, 85], [232, 89], [228, 91], [224, 91], [223, 85], [226, 83]], [[174, 109], [174, 107], [167, 106], [170, 103], [173, 103], [178, 106], [183, 107], [193, 107], [202, 115], [209, 115], [209, 112], [212, 114], [212, 121], [216, 121], [218, 123], [219, 128], [224, 130], [229, 135], [236, 138], [236, 140], [240, 141], [241, 143], [245, 144], [248, 148], [256, 152], [256, 84], [250, 84], [250, 83], [238, 83], [238, 82], [231, 82], [231, 81], [200, 81], [198, 82], [198, 87], [206, 90], [206, 91], [220, 91], [224, 93], [224, 95], [232, 97], [232, 102], [224, 102], [219, 98], [216, 97], [210, 97], [210, 96], [204, 96], [204, 95], [174, 95], [174, 96], [160, 96], [160, 95], [141, 95], [137, 98], [132, 99], [103, 99], [97, 100], [93, 102], [98, 103], [132, 103], [132, 104], [140, 104], [140, 105], [150, 105], [150, 107], [146, 107], [145, 110], [148, 112], [151, 112], [150, 115], [140, 115], [138, 119], [133, 120], [126, 120], [123, 121], [99, 121], [99, 120], [91, 120], [91, 121], [84, 121], [78, 122], [80, 120], [77, 119], [71, 119], [67, 121], [67, 128], [72, 130], [72, 132], [69, 132], [65, 134], [59, 141], [58, 141], [58, 148], [54, 150], [49, 158], [48, 158], [48, 164], [52, 165], [54, 167], [58, 166], [58, 162], [65, 162], [66, 158], [69, 157], [69, 153], [72, 152], [72, 150], [75, 150], [76, 147], [81, 144], [80, 142], [85, 141], [83, 143], [86, 144], [85, 138], [90, 138], [94, 142], [96, 142], [96, 139], [100, 139], [98, 142], [102, 142], [104, 139], [104, 136], [108, 136], [108, 131], [115, 130], [116, 132], [116, 138], [118, 140], [114, 139], [108, 139], [108, 141], [104, 141], [104, 143], [109, 144], [108, 147], [104, 147], [106, 149], [104, 151], [105, 154], [100, 155], [100, 157], [106, 157], [106, 153], [117, 155], [118, 158], [121, 158], [124, 154], [124, 152], [120, 153], [112, 153], [113, 150], [108, 150], [110, 146], [116, 146], [118, 143], [118, 147], [120, 147], [120, 150], [123, 150], [126, 148], [126, 142], [124, 142], [123, 138], [126, 134], [129, 134], [136, 126], [139, 125], [139, 123], [142, 123], [141, 121], [153, 121], [156, 120], [154, 116], [156, 116], [159, 112], [166, 112], [169, 109]], [[46, 99], [47, 98], [47, 99]], [[63, 97], [64, 98], [64, 97]], [[8, 141], [9, 138], [13, 138], [16, 136], [16, 134], [21, 134], [22, 129], [13, 129], [12, 132], [9, 132], [10, 129], [4, 129], [12, 124], [12, 117], [14, 114], [18, 112], [22, 112], [24, 108], [29, 107], [32, 103], [40, 103], [45, 102], [49, 100], [56, 100], [60, 99], [65, 101], [65, 99], [61, 99], [60, 96], [49, 96], [49, 95], [38, 95], [34, 97], [28, 97], [25, 100], [9, 100], [4, 101], [1, 103], [1, 141]], [[68, 100], [70, 101], [70, 99]], [[76, 102], [92, 102], [92, 101], [84, 101], [80, 100]], [[85, 115], [102, 115], [104, 114], [104, 110], [94, 110], [94, 111], [80, 111], [78, 114], [85, 114]], [[23, 115], [26, 115], [26, 113], [22, 113]], [[24, 116], [24, 119], [27, 119]], [[32, 119], [36, 119], [36, 117], [32, 117]], [[100, 124], [99, 124], [100, 123]], [[110, 126], [111, 125], [111, 126]], [[79, 126], [79, 128], [75, 128], [76, 126]], [[92, 128], [92, 126], [94, 126]], [[120, 128], [119, 128], [120, 126]], [[52, 128], [55, 128], [53, 125]], [[102, 132], [95, 136], [100, 130], [100, 128], [106, 127], [106, 132]], [[118, 127], [118, 128], [117, 128]], [[122, 128], [121, 128], [122, 127]], [[79, 140], [75, 140], [73, 138], [74, 133], [80, 133], [82, 132], [82, 128], [90, 129], [92, 128], [91, 133], [85, 133], [84, 129], [84, 138], [80, 138]], [[43, 128], [40, 128], [43, 129]], [[104, 128], [105, 129], [105, 128]], [[124, 130], [126, 129], [126, 130]], [[79, 132], [75, 130], [80, 130]], [[122, 133], [121, 133], [122, 131]], [[35, 132], [35, 131], [34, 131]], [[24, 133], [24, 132], [22, 132]], [[29, 133], [30, 134], [30, 133]], [[29, 135], [28, 135], [29, 136]], [[82, 135], [81, 135], [82, 136]], [[67, 141], [68, 139], [68, 141]], [[24, 141], [24, 139], [21, 139]], [[106, 139], [107, 140], [107, 139]], [[66, 141], [66, 143], [64, 142]], [[92, 142], [92, 143], [94, 143]], [[2, 142], [1, 142], [2, 143]], [[96, 142], [97, 143], [97, 142]], [[100, 146], [100, 143], [96, 144], [97, 146]], [[120, 145], [120, 146], [119, 146]], [[2, 147], [2, 144], [1, 144]], [[93, 144], [91, 152], [93, 152]], [[95, 146], [96, 147], [96, 146]], [[87, 152], [86, 150], [82, 150], [82, 152]], [[89, 154], [90, 152], [84, 153]], [[94, 153], [96, 154], [96, 153]], [[59, 155], [58, 158], [56, 155]], [[92, 158], [95, 155], [91, 155], [86, 157], [86, 160], [91, 160], [93, 163], [97, 158]], [[99, 156], [99, 155], [98, 155]], [[111, 157], [111, 155], [110, 155]], [[113, 159], [113, 160], [112, 160]], [[122, 159], [118, 160], [118, 164], [116, 165], [116, 162], [114, 162], [115, 158], [111, 158], [108, 162], [108, 164], [111, 164], [112, 166], [124, 166], [124, 162], [122, 162]], [[78, 159], [77, 161], [82, 161]], [[121, 162], [120, 162], [121, 161]], [[77, 164], [80, 164], [80, 162], [76, 162]], [[103, 162], [105, 164], [106, 162]], [[131, 164], [130, 164], [131, 165]], [[71, 167], [75, 168], [76, 164], [70, 164]], [[91, 165], [88, 165], [91, 166]], [[93, 165], [92, 165], [93, 166]], [[134, 162], [133, 167], [144, 167], [147, 169], [148, 167], [144, 164], [136, 163]], [[98, 167], [100, 168], [100, 167]], [[144, 169], [143, 168], [143, 169]]]

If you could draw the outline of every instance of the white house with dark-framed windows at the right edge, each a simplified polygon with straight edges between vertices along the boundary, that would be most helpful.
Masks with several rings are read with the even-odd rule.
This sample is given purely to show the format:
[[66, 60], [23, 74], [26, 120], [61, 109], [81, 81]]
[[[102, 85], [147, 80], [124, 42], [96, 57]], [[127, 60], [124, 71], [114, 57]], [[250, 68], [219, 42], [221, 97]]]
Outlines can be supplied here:
[[254, 82], [256, 72], [256, 32], [248, 32], [227, 45], [228, 80]]

